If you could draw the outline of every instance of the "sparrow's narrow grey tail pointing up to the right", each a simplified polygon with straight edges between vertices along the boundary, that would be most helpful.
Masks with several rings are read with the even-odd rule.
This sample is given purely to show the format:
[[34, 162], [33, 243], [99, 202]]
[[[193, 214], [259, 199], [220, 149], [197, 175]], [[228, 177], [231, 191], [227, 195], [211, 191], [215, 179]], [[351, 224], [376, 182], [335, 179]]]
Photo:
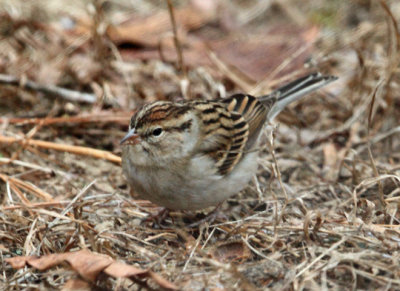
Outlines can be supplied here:
[[272, 121], [288, 104], [336, 79], [337, 77], [335, 76], [324, 76], [321, 73], [312, 73], [290, 82], [268, 95], [259, 97], [259, 100], [265, 106], [271, 108], [268, 112], [267, 120]]

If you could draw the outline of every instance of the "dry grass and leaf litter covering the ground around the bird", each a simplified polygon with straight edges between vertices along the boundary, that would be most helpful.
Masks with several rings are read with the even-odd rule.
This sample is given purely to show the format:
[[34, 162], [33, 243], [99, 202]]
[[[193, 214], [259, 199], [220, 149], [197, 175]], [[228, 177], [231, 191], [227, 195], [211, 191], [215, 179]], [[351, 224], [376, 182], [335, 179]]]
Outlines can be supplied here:
[[[0, 1], [0, 289], [400, 289], [400, 2], [216, 2], [173, 1], [180, 62], [165, 1]], [[118, 157], [138, 106], [315, 70], [340, 79], [214, 222], [144, 220]]]

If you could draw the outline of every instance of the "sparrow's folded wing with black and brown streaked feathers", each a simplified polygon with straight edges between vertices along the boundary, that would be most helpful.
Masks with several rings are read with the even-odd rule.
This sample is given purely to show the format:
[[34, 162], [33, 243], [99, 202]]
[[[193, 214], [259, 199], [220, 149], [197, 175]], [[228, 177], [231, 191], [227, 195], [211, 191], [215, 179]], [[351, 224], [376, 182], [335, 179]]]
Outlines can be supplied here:
[[252, 149], [268, 110], [257, 98], [244, 94], [198, 103], [196, 107], [203, 120], [201, 151], [214, 159], [220, 175], [227, 175]]

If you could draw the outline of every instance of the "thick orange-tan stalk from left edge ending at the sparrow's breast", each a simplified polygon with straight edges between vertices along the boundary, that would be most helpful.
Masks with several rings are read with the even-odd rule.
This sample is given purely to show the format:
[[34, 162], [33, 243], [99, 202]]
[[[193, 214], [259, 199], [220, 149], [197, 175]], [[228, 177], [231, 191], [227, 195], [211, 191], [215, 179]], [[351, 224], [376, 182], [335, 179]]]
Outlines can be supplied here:
[[98, 159], [104, 159], [108, 160], [113, 163], [120, 164], [121, 163], [121, 158], [110, 153], [107, 151], [102, 151], [102, 150], [97, 150], [97, 149], [92, 149], [88, 147], [81, 147], [81, 146], [73, 146], [73, 145], [67, 145], [67, 144], [58, 144], [54, 142], [48, 142], [48, 141], [43, 141], [43, 140], [34, 140], [34, 139], [19, 139], [15, 137], [8, 137], [8, 136], [3, 136], [0, 135], [0, 143], [21, 143], [23, 142], [24, 144], [32, 145], [32, 146], [38, 146], [41, 148], [45, 149], [51, 149], [51, 150], [56, 150], [56, 151], [62, 151], [62, 152], [68, 152], [72, 154], [77, 154], [77, 155], [83, 155], [83, 156], [91, 156], [94, 158]]

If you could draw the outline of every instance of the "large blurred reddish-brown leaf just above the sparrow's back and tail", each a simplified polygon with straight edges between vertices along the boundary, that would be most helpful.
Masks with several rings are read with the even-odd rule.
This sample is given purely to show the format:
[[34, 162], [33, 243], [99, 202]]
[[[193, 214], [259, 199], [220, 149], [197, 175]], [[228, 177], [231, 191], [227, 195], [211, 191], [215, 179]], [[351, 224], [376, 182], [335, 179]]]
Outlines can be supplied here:
[[288, 65], [279, 75], [302, 68], [317, 35], [314, 27], [279, 26], [263, 33], [243, 32], [208, 43], [224, 63], [254, 81], [261, 81], [287, 60]]

